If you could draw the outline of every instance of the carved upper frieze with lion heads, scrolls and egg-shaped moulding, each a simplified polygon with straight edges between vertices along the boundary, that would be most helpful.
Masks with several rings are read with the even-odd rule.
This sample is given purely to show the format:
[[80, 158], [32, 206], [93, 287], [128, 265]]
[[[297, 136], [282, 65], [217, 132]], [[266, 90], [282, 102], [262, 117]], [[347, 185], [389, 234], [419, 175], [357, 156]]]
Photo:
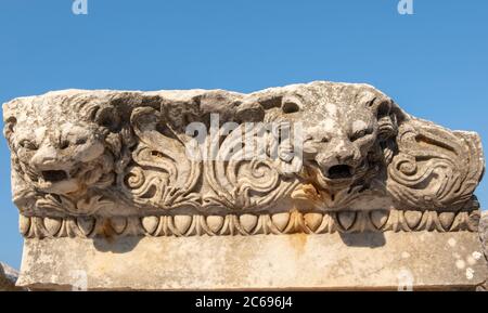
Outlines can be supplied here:
[[485, 167], [476, 133], [414, 118], [368, 84], [67, 90], [3, 115], [28, 237], [91, 236], [116, 219], [116, 234], [136, 223], [154, 236], [470, 229]]

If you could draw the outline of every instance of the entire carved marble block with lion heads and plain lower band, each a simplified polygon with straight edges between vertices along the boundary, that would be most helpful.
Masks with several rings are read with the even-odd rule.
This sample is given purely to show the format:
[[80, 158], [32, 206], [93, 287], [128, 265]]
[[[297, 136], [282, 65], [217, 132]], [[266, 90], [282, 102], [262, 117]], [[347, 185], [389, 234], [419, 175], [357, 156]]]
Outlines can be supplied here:
[[391, 289], [410, 277], [415, 289], [487, 277], [479, 136], [412, 117], [368, 84], [66, 90], [13, 100], [3, 119], [22, 286], [70, 288], [81, 275], [89, 289]]

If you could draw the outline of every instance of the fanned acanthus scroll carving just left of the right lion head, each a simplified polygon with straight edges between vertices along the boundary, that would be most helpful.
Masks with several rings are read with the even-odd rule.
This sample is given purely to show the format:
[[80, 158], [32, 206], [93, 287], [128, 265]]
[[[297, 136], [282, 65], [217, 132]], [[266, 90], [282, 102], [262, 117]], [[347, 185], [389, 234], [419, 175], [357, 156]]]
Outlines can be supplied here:
[[[243, 126], [222, 140], [215, 158], [204, 162], [206, 182], [211, 188], [203, 198], [207, 208], [226, 207], [234, 211], [266, 209], [285, 200], [298, 185], [295, 177], [283, 173], [283, 160], [270, 156], [270, 151], [277, 145], [273, 130], [267, 131], [262, 125], [249, 129]], [[241, 145], [242, 134], [252, 138], [252, 153], [257, 156], [245, 156], [248, 146], [236, 148]], [[211, 148], [210, 140], [206, 146]]]

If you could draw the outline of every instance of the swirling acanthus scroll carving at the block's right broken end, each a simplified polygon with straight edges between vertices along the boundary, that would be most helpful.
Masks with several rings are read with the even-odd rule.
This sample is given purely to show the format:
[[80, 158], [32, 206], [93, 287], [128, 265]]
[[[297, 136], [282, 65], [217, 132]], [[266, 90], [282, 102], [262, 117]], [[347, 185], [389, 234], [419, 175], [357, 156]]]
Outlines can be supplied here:
[[400, 127], [388, 191], [407, 208], [460, 209], [484, 172], [479, 136], [411, 120]]

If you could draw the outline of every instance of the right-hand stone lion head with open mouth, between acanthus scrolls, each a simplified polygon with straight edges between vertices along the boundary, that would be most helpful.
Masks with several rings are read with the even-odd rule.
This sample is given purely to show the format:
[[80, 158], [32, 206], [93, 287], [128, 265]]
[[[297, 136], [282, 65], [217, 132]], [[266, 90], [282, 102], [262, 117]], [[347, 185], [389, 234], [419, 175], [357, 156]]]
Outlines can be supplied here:
[[385, 168], [397, 119], [394, 102], [374, 88], [313, 82], [254, 96], [267, 112], [266, 121], [300, 123], [300, 177], [317, 190], [364, 188]]

